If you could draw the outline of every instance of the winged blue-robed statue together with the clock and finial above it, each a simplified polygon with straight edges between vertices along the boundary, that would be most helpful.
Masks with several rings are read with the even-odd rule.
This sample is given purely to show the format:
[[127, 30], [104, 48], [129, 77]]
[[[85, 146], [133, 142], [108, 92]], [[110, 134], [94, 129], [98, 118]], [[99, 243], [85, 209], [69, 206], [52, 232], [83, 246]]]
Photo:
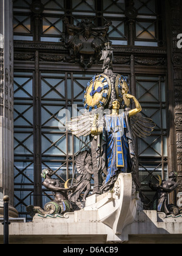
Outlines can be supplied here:
[[[152, 119], [141, 115], [141, 105], [135, 96], [129, 94], [126, 78], [112, 72], [111, 44], [110, 41], [105, 43], [102, 51], [104, 79], [103, 74], [98, 76], [96, 82], [94, 77], [85, 91], [83, 100], [85, 113], [71, 118], [66, 124], [67, 129], [76, 137], [90, 137], [93, 193], [104, 193], [110, 190], [120, 172], [131, 172], [136, 189], [140, 191], [134, 138], [149, 136], [155, 127]], [[100, 77], [102, 77], [101, 81]], [[109, 91], [106, 93], [105, 88], [110, 88], [110, 93]], [[98, 100], [101, 97], [106, 97], [105, 104], [103, 104], [104, 101]], [[87, 111], [87, 105], [90, 102], [96, 104], [97, 101], [101, 107], [99, 104], [93, 104]], [[134, 108], [130, 108], [132, 105], [130, 101], [133, 101]]]

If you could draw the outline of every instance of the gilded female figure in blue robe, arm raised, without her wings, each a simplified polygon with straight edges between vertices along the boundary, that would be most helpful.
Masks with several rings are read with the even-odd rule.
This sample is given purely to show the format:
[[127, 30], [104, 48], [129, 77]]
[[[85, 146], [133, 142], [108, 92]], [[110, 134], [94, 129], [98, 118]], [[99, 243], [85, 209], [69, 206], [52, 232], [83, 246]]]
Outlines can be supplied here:
[[126, 108], [120, 113], [120, 101], [115, 99], [112, 102], [110, 115], [103, 116], [103, 127], [93, 127], [92, 135], [102, 135], [102, 149], [106, 155], [107, 176], [101, 190], [107, 190], [116, 180], [119, 172], [132, 172], [133, 157], [133, 138], [130, 129], [129, 118], [141, 111], [141, 105], [131, 94], [126, 94], [126, 99], [133, 99], [135, 108]]

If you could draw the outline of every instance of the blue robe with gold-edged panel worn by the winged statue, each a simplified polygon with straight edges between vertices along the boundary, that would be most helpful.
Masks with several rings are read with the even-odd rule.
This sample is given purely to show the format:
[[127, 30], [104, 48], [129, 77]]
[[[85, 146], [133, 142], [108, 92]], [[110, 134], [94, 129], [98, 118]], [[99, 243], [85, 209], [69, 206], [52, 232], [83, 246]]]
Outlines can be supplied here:
[[105, 183], [118, 172], [132, 171], [133, 141], [130, 132], [129, 112], [121, 115], [105, 115], [103, 141], [106, 143], [106, 168]]

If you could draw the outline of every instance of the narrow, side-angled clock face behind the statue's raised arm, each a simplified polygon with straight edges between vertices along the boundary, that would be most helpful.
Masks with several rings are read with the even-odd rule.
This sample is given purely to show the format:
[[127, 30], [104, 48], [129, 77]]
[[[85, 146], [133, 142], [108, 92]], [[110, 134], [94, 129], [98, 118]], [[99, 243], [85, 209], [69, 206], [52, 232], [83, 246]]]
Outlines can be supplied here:
[[126, 98], [126, 94], [129, 92], [129, 85], [127, 84], [127, 80], [124, 76], [118, 75], [116, 77], [116, 96], [118, 99], [120, 99], [121, 104], [124, 104], [129, 107], [130, 100]]

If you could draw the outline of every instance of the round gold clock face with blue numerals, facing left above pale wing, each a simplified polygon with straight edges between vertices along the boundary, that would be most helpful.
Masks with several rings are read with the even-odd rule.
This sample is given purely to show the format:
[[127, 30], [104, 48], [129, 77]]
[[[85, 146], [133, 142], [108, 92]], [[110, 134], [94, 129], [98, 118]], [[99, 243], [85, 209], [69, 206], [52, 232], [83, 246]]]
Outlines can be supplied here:
[[95, 75], [84, 91], [84, 108], [92, 111], [92, 109], [105, 106], [110, 96], [110, 90], [110, 79], [104, 74]]

